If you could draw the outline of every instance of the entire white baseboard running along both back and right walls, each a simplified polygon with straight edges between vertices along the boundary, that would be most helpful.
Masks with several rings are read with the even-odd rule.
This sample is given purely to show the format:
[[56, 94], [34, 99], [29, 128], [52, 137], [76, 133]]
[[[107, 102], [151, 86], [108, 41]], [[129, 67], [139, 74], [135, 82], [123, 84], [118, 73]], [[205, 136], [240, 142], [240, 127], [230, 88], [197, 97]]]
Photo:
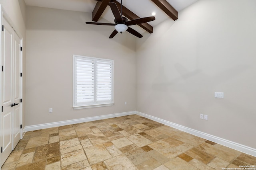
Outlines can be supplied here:
[[82, 118], [82, 119], [73, 119], [73, 120], [68, 120], [68, 121], [59, 121], [59, 122], [53, 122], [53, 123], [45, 123], [45, 124], [40, 124], [40, 125], [32, 125], [32, 126], [26, 126], [23, 129], [23, 134], [25, 132], [28, 131], [35, 131], [35, 130], [39, 130], [39, 129], [46, 129], [46, 128], [51, 128], [51, 127], [58, 127], [58, 126], [64, 126], [64, 125], [72, 125], [72, 124], [76, 124], [76, 123], [84, 123], [84, 122], [88, 122], [88, 121], [95, 121], [95, 120], [101, 120], [101, 119], [108, 119], [108, 118], [113, 118], [113, 117], [120, 117], [120, 116], [126, 116], [126, 115], [133, 115], [133, 114], [137, 114], [143, 117], [146, 117], [148, 119], [157, 121], [159, 123], [162, 123], [164, 125], [173, 127], [175, 129], [179, 129], [181, 131], [190, 133], [192, 135], [198, 136], [198, 137], [202, 137], [204, 139], [207, 139], [209, 141], [218, 143], [220, 145], [224, 145], [226, 147], [235, 149], [235, 150], [239, 150], [240, 152], [244, 152], [246, 154], [250, 154], [252, 156], [256, 156], [256, 149], [251, 148], [251, 147], [247, 147], [245, 145], [241, 145], [239, 143], [235, 143], [232, 141], [228, 141], [226, 139], [222, 139], [220, 137], [216, 137], [201, 131], [197, 131], [182, 125], [178, 125], [176, 123], [172, 123], [170, 121], [166, 121], [164, 119], [160, 119], [158, 117], [154, 117], [151, 115], [147, 115], [145, 113], [141, 113], [139, 111], [129, 111], [129, 112], [123, 112], [123, 113], [115, 113], [115, 114], [110, 114], [110, 115], [102, 115], [102, 116], [95, 116], [95, 117], [87, 117], [87, 118]]

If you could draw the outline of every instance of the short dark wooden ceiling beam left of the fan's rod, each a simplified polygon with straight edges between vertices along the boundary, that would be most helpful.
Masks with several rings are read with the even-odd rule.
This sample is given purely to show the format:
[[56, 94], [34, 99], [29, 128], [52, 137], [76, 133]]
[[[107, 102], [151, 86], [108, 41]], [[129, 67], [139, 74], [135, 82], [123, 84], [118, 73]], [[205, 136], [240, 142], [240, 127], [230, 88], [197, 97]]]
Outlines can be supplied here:
[[92, 11], [92, 21], [97, 22], [100, 19], [100, 16], [108, 6], [108, 2], [110, 2], [110, 0], [98, 0], [94, 10]]

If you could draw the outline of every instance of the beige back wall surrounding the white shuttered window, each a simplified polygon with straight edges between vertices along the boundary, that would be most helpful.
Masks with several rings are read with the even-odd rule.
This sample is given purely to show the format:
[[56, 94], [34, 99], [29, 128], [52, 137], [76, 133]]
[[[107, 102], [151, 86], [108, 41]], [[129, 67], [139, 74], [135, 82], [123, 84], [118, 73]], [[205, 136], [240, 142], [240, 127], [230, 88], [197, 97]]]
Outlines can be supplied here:
[[[108, 39], [114, 27], [86, 21], [91, 14], [27, 6], [26, 126], [136, 109], [135, 38]], [[114, 60], [114, 106], [73, 110], [74, 54]]]

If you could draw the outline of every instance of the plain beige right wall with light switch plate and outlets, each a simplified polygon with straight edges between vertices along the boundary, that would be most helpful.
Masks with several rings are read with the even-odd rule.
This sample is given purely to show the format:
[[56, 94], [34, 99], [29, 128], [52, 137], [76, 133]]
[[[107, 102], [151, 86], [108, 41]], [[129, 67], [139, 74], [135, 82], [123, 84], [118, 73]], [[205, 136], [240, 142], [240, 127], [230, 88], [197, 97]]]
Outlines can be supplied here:
[[136, 110], [256, 148], [255, 9], [199, 0], [139, 39]]

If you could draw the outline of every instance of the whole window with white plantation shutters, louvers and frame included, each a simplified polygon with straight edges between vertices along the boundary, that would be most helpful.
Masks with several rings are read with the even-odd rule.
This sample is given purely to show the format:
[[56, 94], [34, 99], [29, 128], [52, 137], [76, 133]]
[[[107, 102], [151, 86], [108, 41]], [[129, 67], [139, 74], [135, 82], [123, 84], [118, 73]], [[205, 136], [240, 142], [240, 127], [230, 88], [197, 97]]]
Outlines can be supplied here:
[[73, 56], [73, 108], [112, 106], [114, 61]]

